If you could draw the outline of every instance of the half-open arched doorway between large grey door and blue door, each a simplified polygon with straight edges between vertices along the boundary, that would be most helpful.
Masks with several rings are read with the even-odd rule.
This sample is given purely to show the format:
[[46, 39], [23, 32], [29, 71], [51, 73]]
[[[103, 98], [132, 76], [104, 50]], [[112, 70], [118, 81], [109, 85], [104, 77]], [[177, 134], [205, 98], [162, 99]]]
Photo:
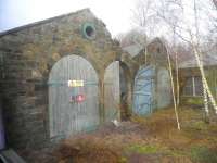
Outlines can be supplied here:
[[105, 122], [126, 121], [130, 116], [131, 83], [130, 71], [122, 61], [112, 62], [104, 74]]

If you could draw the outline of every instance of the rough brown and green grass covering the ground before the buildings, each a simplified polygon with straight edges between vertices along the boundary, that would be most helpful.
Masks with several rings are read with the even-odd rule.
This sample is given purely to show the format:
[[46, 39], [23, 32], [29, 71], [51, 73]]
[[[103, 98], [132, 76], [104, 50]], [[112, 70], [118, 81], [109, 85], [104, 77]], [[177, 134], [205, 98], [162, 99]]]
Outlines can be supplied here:
[[59, 151], [60, 160], [65, 161], [61, 163], [72, 158], [75, 163], [216, 163], [217, 123], [203, 121], [199, 109], [181, 108], [179, 117], [181, 130], [177, 129], [174, 110], [165, 109], [149, 117], [132, 117], [131, 124], [138, 127], [131, 131], [117, 128], [68, 139]]

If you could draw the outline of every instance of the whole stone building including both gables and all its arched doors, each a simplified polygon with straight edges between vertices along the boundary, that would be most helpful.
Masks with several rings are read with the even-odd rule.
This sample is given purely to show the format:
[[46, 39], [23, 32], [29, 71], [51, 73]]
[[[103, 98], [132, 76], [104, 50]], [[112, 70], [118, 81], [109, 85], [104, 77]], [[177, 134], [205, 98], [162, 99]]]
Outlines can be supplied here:
[[[8, 145], [44, 147], [115, 118], [127, 120], [142, 104], [169, 105], [165, 47], [156, 39], [148, 53], [144, 59], [142, 52], [133, 58], [124, 52], [89, 9], [1, 33]], [[146, 103], [141, 96], [136, 99], [140, 74], [149, 83], [141, 90], [151, 93]]]

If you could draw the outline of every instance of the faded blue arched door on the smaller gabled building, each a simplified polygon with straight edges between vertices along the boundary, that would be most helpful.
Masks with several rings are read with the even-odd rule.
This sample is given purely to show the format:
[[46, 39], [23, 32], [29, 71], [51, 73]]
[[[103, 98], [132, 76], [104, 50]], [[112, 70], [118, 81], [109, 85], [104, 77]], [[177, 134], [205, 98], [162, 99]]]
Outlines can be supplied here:
[[135, 78], [133, 113], [149, 115], [154, 108], [154, 68], [145, 66], [138, 71]]

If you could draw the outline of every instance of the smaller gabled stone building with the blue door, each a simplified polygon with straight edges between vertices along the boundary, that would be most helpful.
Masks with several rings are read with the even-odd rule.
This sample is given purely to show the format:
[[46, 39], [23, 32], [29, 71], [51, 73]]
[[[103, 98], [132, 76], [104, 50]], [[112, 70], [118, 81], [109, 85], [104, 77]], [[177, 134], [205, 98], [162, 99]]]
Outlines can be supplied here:
[[130, 45], [124, 48], [137, 63], [133, 77], [132, 111], [145, 115], [171, 103], [171, 87], [167, 62], [167, 50], [159, 38], [145, 48]]

